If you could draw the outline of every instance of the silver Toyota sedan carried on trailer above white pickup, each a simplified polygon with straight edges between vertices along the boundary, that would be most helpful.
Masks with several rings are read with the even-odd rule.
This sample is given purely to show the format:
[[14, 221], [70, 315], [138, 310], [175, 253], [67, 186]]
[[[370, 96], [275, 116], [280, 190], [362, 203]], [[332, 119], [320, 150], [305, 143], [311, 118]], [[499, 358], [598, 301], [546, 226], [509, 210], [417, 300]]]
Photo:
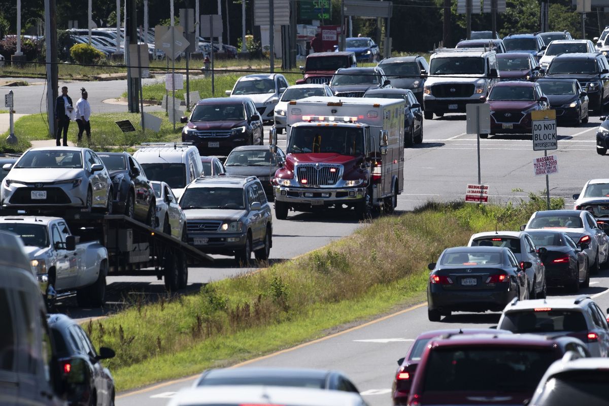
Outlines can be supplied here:
[[0, 190], [3, 208], [112, 211], [110, 174], [88, 148], [32, 148], [3, 169], [10, 169]]

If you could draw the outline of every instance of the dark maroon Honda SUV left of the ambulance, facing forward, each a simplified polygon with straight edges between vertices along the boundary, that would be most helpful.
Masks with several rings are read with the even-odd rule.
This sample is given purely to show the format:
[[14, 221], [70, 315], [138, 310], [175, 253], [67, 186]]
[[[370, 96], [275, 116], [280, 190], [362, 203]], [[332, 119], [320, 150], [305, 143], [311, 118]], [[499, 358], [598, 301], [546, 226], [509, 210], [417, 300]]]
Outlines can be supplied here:
[[262, 145], [262, 119], [249, 97], [200, 100], [190, 117], [182, 117], [182, 141], [205, 155], [226, 155], [239, 145]]

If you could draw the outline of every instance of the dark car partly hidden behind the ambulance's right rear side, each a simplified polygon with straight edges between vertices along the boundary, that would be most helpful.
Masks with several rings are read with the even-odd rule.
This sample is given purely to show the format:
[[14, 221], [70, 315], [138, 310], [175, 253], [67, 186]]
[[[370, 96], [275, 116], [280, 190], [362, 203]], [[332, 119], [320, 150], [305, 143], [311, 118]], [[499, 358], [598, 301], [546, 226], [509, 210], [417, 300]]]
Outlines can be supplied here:
[[364, 97], [406, 100], [404, 111], [404, 147], [412, 147], [423, 142], [423, 110], [417, 97], [410, 89], [370, 89]]

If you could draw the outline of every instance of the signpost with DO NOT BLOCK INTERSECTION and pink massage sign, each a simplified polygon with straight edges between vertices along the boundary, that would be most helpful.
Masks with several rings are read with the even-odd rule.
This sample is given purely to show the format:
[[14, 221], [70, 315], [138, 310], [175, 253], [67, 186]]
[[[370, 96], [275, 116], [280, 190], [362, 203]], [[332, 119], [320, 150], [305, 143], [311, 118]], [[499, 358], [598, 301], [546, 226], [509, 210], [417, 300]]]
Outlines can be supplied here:
[[[531, 121], [533, 127], [533, 151], [543, 150], [543, 160], [536, 162], [541, 158], [533, 161], [535, 167], [535, 175], [546, 175], [546, 203], [547, 209], [550, 209], [550, 181], [547, 178], [549, 173], [556, 172], [539, 172], [538, 167], [547, 162], [547, 150], [558, 149], [558, 139], [556, 136], [556, 110], [538, 110], [531, 112]], [[555, 158], [554, 156], [550, 158]], [[554, 159], [555, 161], [555, 159]]]

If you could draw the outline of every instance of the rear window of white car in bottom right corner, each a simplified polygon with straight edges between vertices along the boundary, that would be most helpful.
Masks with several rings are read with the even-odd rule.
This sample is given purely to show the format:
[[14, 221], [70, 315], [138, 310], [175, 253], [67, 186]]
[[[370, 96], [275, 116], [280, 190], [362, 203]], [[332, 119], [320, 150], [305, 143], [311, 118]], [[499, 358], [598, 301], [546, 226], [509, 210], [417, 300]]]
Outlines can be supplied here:
[[541, 390], [540, 406], [572, 406], [577, 404], [607, 406], [607, 369], [575, 369], [561, 371], [544, 384]]

